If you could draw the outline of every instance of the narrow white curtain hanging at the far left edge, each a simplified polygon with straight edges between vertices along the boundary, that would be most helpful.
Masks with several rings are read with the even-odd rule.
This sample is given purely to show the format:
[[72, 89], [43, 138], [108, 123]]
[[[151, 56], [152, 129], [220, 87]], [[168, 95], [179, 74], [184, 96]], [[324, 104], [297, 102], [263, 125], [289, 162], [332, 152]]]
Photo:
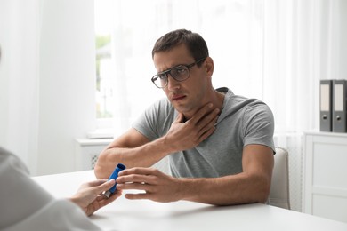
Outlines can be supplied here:
[[39, 2], [0, 0], [0, 146], [36, 171]]

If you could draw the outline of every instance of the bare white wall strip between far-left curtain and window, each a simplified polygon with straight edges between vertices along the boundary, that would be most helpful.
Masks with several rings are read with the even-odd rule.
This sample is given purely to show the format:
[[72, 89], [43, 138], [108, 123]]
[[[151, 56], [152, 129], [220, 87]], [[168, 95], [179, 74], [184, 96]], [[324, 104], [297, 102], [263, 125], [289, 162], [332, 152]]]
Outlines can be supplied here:
[[95, 129], [93, 1], [44, 1], [38, 172], [72, 171], [74, 139]]

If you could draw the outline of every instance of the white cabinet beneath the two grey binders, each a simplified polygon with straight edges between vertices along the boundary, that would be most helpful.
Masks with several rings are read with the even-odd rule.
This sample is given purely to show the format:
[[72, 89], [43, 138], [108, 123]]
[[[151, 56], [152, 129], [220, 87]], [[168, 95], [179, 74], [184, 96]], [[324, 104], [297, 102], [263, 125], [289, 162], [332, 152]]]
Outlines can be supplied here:
[[303, 212], [347, 222], [347, 133], [305, 132]]

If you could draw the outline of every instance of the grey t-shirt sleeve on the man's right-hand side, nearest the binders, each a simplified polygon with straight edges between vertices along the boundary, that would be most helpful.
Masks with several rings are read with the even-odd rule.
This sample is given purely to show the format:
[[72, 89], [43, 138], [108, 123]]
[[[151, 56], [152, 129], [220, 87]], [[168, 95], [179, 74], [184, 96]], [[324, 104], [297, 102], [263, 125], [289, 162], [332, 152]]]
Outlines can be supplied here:
[[245, 131], [244, 146], [260, 144], [272, 148], [275, 152], [273, 142], [274, 117], [266, 104], [258, 103], [247, 108], [243, 126]]

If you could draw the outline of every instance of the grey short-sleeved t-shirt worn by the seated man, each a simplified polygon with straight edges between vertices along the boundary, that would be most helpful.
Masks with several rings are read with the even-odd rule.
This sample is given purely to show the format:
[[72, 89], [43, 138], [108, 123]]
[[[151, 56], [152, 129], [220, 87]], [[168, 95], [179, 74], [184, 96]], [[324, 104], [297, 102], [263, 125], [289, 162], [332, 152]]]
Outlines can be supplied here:
[[[273, 143], [274, 119], [270, 108], [261, 100], [235, 95], [228, 88], [222, 112], [214, 133], [197, 147], [169, 155], [174, 177], [217, 178], [242, 172], [243, 147], [249, 144], [268, 146]], [[158, 100], [133, 123], [133, 128], [149, 140], [158, 139], [169, 131], [177, 116], [170, 101]]]

